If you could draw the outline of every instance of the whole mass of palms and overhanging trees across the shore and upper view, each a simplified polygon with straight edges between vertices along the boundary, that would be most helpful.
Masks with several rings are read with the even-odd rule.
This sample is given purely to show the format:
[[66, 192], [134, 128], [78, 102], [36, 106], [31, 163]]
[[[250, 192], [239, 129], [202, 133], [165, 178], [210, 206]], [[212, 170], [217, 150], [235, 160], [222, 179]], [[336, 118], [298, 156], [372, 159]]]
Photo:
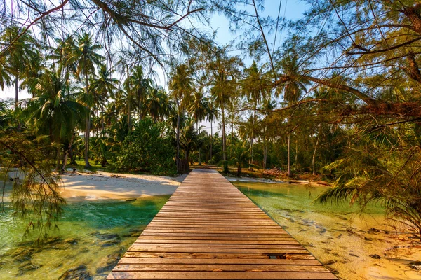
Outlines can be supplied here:
[[[308, 1], [295, 21], [264, 16], [262, 0], [76, 3], [0, 15], [0, 87], [15, 91], [0, 103], [1, 172], [25, 174], [13, 204], [31, 225], [60, 214], [55, 176], [83, 159], [309, 172], [335, 182], [317, 202], [379, 202], [421, 235], [420, 3]], [[236, 45], [189, 24], [213, 13]]]

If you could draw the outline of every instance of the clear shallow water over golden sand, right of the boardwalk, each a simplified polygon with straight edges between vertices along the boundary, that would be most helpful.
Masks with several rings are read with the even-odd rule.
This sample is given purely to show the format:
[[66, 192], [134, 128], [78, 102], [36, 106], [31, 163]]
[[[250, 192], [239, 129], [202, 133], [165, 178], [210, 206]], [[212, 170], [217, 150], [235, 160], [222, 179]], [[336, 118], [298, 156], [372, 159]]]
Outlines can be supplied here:
[[324, 186], [232, 183], [340, 279], [421, 279], [420, 272], [408, 268], [409, 262], [421, 260], [421, 249], [407, 248], [408, 235], [396, 234], [380, 205], [370, 205], [361, 215], [349, 204], [312, 203]]

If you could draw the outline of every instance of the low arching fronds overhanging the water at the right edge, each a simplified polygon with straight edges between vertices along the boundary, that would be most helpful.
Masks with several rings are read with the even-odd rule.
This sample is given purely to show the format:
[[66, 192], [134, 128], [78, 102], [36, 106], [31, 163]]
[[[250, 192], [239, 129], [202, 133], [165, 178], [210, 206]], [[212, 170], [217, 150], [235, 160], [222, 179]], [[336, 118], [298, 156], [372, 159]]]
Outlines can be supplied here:
[[417, 132], [410, 127], [403, 134], [390, 130], [368, 134], [358, 146], [347, 148], [340, 159], [326, 166], [338, 179], [316, 201], [358, 203], [361, 207], [381, 202], [391, 220], [405, 223], [421, 235], [421, 153], [418, 147], [408, 148], [401, 141], [416, 139]]

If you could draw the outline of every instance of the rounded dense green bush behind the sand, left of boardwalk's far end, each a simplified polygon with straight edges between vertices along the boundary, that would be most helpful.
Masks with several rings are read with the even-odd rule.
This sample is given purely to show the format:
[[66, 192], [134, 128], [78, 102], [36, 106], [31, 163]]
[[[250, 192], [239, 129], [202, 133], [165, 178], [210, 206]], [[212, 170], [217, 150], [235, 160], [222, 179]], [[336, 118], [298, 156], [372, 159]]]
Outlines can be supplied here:
[[124, 139], [116, 165], [119, 169], [174, 175], [177, 173], [174, 155], [167, 127], [146, 118]]

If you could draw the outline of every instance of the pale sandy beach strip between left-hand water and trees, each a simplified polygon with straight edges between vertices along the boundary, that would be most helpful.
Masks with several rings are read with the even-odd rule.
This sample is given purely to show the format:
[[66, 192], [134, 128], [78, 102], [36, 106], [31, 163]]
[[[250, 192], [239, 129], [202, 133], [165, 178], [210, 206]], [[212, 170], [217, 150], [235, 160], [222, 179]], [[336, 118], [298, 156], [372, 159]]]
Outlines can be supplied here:
[[114, 174], [63, 174], [60, 195], [67, 200], [127, 200], [145, 195], [171, 195], [185, 176]]

